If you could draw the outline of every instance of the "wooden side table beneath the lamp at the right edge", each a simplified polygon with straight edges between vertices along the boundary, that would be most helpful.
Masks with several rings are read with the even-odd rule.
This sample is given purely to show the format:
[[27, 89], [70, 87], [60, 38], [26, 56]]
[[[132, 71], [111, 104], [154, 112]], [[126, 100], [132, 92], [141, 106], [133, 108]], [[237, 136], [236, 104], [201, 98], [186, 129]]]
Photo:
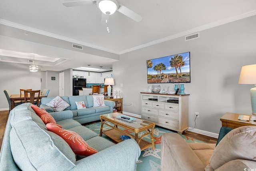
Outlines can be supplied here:
[[[240, 126], [256, 126], [256, 122], [253, 121], [242, 121], [238, 119], [240, 114], [226, 112], [221, 118], [222, 126], [228, 128], [238, 128]], [[242, 114], [244, 115], [244, 114]]]

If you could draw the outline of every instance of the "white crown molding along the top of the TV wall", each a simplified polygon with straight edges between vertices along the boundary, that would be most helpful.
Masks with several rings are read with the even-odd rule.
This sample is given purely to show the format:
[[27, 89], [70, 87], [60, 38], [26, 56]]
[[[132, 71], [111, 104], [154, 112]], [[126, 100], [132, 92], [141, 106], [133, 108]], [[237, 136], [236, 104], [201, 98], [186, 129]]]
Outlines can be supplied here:
[[234, 22], [236, 20], [241, 20], [243, 18], [247, 18], [247, 17], [250, 17], [250, 16], [254, 16], [256, 15], [256, 10], [252, 10], [250, 12], [246, 12], [244, 14], [240, 14], [240, 15], [237, 15], [237, 16], [233, 16], [233, 17], [230, 17], [230, 18], [225, 18], [225, 19], [222, 19], [222, 20], [218, 20], [216, 22], [212, 22], [212, 23], [209, 23], [209, 24], [206, 24], [206, 25], [203, 25], [203, 26], [199, 26], [197, 28], [193, 28], [193, 29], [190, 29], [190, 30], [187, 30], [187, 31], [183, 31], [183, 32], [180, 32], [180, 33], [177, 33], [177, 34], [174, 34], [174, 35], [170, 35], [168, 37], [164, 37], [162, 39], [158, 39], [158, 40], [155, 40], [155, 41], [151, 41], [149, 43], [145, 43], [143, 45], [139, 45], [139, 46], [136, 46], [136, 47], [132, 47], [130, 49], [126, 49], [124, 51], [120, 51], [119, 52], [119, 55], [123, 54], [123, 53], [127, 53], [127, 52], [130, 52], [130, 51], [135, 51], [135, 50], [138, 50], [138, 49], [142, 49], [144, 47], [148, 47], [148, 46], [151, 46], [151, 45], [155, 45], [155, 44], [158, 44], [158, 43], [162, 43], [164, 41], [168, 41], [168, 40], [172, 40], [172, 39], [176, 39], [178, 37], [182, 37], [182, 36], [185, 36], [185, 35], [189, 35], [189, 34], [192, 34], [192, 33], [196, 33], [198, 31], [202, 31], [202, 30], [206, 30], [206, 29], [210, 29], [210, 28], [214, 28], [216, 26], [220, 26], [220, 25], [223, 25], [223, 24], [227, 24], [227, 23], [230, 23], [230, 22]]

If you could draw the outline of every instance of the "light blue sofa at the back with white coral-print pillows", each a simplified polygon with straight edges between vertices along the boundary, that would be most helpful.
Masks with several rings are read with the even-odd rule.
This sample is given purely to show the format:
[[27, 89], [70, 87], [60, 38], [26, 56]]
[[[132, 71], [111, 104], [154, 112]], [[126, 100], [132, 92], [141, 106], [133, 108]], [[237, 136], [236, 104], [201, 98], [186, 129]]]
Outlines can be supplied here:
[[[103, 96], [103, 94], [102, 94]], [[70, 106], [64, 111], [71, 110], [73, 113], [73, 119], [79, 122], [80, 124], [93, 122], [100, 120], [101, 114], [112, 113], [113, 108], [116, 105], [115, 102], [110, 100], [104, 100], [106, 106], [93, 107], [93, 96], [61, 96]], [[54, 97], [44, 97], [41, 100], [40, 108], [44, 108], [48, 113], [54, 112], [52, 108], [47, 106]], [[86, 109], [77, 109], [76, 102], [84, 101]]]

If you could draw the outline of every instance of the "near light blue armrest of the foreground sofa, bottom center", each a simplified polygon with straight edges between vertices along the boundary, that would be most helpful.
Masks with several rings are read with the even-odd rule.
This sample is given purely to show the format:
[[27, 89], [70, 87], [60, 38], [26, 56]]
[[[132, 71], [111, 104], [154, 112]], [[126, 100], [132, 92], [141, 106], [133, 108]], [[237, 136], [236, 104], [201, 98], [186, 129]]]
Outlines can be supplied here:
[[136, 171], [139, 156], [138, 143], [129, 139], [76, 161], [76, 166], [70, 171]]

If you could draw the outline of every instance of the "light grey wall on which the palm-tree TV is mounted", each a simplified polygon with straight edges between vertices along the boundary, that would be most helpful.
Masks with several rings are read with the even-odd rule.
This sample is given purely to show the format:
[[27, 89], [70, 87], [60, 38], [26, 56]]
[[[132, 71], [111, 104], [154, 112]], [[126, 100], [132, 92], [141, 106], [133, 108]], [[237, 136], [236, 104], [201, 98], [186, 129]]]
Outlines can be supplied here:
[[[191, 83], [184, 84], [189, 96], [189, 126], [199, 112], [196, 128], [218, 133], [225, 112], [250, 114], [250, 88], [238, 85], [242, 65], [256, 64], [256, 16], [200, 31], [200, 38], [179, 37], [120, 55], [113, 63], [114, 90], [121, 90], [123, 111], [141, 115], [141, 94], [147, 92], [146, 60], [190, 51]], [[123, 87], [120, 84], [123, 84]], [[163, 86], [174, 88], [174, 84]]]

